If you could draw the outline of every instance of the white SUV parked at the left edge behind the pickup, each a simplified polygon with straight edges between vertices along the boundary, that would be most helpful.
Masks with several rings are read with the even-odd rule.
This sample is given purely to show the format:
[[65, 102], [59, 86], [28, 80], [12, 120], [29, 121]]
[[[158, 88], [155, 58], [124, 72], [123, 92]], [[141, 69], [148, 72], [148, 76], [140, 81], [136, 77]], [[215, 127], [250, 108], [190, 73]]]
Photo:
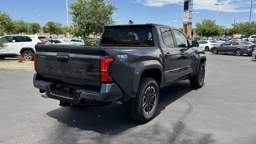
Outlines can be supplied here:
[[6, 46], [0, 49], [0, 59], [22, 55], [26, 60], [33, 60], [35, 45], [50, 43], [45, 36], [14, 34], [2, 36]]

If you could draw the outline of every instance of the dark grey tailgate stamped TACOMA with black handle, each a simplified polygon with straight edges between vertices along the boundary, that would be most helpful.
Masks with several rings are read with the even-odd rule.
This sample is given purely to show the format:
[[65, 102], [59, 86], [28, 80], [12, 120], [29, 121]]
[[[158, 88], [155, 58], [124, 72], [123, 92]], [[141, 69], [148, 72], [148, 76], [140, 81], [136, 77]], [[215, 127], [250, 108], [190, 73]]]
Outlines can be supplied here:
[[78, 86], [100, 86], [100, 47], [36, 45], [40, 77]]

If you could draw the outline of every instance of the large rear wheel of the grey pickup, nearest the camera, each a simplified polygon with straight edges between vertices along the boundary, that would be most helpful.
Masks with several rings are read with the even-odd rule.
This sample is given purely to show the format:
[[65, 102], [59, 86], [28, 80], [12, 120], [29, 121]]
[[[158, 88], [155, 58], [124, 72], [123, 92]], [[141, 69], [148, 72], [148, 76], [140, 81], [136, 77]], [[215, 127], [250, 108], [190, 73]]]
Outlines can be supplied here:
[[[152, 96], [152, 94], [154, 95]], [[159, 89], [156, 81], [152, 78], [142, 78], [135, 97], [134, 112], [131, 117], [140, 122], [151, 120], [156, 113], [158, 101]]]

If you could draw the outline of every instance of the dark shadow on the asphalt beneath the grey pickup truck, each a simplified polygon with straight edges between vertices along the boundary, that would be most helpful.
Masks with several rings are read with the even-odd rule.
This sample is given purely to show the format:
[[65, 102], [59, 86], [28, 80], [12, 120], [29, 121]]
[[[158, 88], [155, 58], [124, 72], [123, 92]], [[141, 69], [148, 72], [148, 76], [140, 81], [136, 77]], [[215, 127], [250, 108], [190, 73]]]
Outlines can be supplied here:
[[[172, 104], [172, 102], [192, 90], [188, 80], [176, 82], [175, 84], [162, 88], [160, 90], [160, 103], [158, 104], [155, 116], [158, 116], [166, 106]], [[189, 115], [191, 112], [192, 109], [188, 109], [185, 116]], [[130, 116], [122, 110], [122, 105], [117, 103], [102, 107], [61, 107], [47, 112], [46, 115], [69, 127], [108, 135], [120, 134], [130, 128], [144, 124], [132, 120]], [[177, 126], [180, 127], [182, 125], [178, 123]]]

